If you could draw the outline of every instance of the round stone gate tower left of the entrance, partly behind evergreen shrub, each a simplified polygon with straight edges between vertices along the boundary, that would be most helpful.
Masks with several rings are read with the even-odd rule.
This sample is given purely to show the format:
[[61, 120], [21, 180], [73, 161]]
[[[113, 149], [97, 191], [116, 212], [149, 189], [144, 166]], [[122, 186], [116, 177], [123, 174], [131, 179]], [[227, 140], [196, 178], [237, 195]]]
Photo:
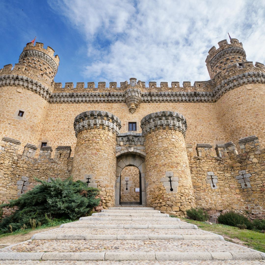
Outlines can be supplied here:
[[73, 178], [96, 183], [104, 197], [103, 208], [115, 204], [115, 147], [120, 128], [120, 120], [106, 111], [85, 111], [74, 120], [77, 142]]

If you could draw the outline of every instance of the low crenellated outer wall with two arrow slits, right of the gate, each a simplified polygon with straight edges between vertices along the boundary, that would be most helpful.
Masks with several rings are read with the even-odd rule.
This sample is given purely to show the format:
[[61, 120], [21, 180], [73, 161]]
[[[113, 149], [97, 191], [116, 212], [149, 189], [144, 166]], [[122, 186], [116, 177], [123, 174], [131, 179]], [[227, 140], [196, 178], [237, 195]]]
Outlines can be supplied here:
[[229, 210], [264, 218], [265, 149], [257, 137], [240, 142], [241, 154], [232, 142], [218, 145], [219, 156], [209, 146], [203, 153], [187, 148], [196, 206], [210, 211], [215, 219]]

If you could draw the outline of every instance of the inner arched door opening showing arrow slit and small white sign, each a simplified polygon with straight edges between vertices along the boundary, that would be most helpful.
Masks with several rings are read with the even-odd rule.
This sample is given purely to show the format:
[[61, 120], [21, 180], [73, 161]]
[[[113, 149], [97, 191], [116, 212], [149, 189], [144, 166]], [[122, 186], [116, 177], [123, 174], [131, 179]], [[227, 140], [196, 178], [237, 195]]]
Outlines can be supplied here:
[[135, 166], [126, 166], [120, 176], [120, 205], [142, 204], [141, 173]]

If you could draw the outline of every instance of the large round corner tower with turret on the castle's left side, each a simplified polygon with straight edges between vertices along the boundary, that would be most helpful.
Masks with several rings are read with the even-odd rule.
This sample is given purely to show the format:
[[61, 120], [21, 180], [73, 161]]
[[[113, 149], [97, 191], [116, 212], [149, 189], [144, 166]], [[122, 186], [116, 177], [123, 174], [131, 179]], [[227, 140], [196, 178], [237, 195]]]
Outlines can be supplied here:
[[19, 151], [38, 144], [58, 66], [54, 50], [37, 42], [24, 47], [13, 69], [9, 64], [0, 70], [0, 138], [19, 140]]

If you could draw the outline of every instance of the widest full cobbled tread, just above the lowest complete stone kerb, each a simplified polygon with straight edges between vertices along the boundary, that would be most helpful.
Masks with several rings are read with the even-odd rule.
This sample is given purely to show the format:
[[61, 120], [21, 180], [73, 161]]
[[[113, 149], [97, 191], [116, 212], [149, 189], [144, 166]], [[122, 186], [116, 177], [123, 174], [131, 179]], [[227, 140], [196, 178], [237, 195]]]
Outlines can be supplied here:
[[251, 252], [250, 248], [231, 244], [223, 240], [32, 240], [14, 247], [7, 247], [0, 252], [101, 252], [101, 251], [169, 251], [178, 252], [210, 251]]

